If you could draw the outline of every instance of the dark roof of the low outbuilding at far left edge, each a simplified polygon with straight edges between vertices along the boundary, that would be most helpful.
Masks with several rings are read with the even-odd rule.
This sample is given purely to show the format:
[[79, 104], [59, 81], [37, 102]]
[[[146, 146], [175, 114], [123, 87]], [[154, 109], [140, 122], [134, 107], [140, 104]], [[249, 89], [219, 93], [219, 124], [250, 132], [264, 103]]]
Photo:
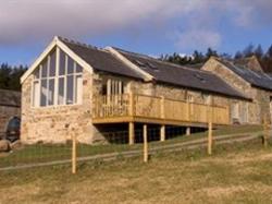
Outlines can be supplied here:
[[21, 107], [21, 93], [10, 89], [0, 89], [0, 106]]

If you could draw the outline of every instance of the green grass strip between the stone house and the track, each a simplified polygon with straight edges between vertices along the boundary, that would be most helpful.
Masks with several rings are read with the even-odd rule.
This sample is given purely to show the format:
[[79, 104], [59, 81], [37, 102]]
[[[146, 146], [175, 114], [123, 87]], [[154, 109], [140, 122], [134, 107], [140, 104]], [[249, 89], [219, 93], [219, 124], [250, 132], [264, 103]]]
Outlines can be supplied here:
[[[249, 132], [261, 131], [260, 125], [237, 125], [237, 127], [224, 127], [213, 131], [213, 135], [226, 135], [226, 134], [245, 134]], [[207, 132], [195, 133], [189, 136], [181, 135], [174, 139], [166, 140], [165, 142], [151, 142], [150, 146], [161, 146], [165, 144], [182, 143], [201, 139], [207, 135]], [[91, 156], [106, 153], [122, 153], [124, 151], [141, 149], [141, 144], [127, 145], [127, 144], [107, 144], [107, 145], [77, 145], [77, 156]], [[22, 149], [14, 151], [13, 153], [1, 155], [0, 167], [54, 161], [61, 159], [70, 159], [72, 152], [71, 144], [51, 145], [51, 144], [36, 144], [27, 145]]]

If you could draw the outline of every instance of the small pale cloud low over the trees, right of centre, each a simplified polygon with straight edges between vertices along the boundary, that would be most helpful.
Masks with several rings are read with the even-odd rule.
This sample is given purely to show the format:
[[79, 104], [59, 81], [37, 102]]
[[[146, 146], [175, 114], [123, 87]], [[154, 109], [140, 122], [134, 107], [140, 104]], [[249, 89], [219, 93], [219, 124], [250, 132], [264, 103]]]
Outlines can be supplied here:
[[212, 31], [193, 29], [183, 33], [176, 33], [175, 46], [178, 49], [193, 48], [203, 50], [208, 47], [218, 48], [221, 44], [221, 35]]

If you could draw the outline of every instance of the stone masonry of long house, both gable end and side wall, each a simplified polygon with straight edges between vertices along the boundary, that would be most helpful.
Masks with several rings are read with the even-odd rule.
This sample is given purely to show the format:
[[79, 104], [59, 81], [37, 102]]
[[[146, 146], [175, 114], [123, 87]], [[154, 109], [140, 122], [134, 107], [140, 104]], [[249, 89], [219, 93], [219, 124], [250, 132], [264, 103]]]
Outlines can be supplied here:
[[[121, 80], [125, 84], [125, 93], [145, 94], [150, 96], [164, 96], [186, 100], [191, 95], [196, 103], [207, 103], [206, 97], [210, 93], [201, 93], [188, 88], [171, 86], [166, 84], [153, 84], [123, 76], [104, 73], [83, 72], [83, 104], [52, 107], [32, 107], [32, 83], [29, 75], [22, 86], [22, 132], [24, 143], [65, 143], [76, 134], [81, 143], [94, 144], [104, 141], [100, 130], [92, 125], [92, 98], [102, 93], [106, 79]], [[213, 104], [218, 106], [231, 106], [233, 101], [246, 104], [247, 101], [213, 95]]]

